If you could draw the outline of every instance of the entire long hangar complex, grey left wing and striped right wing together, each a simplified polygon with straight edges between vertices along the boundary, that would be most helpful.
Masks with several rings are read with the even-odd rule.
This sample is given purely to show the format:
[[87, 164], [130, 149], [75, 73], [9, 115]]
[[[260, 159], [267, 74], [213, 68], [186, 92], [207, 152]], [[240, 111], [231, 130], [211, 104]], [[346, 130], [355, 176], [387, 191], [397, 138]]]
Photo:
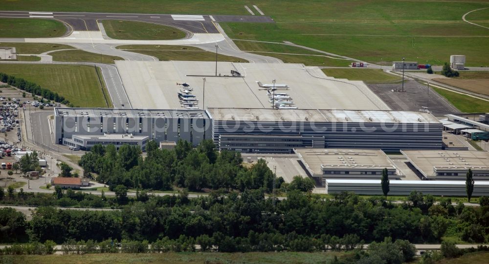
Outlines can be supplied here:
[[[294, 148], [441, 149], [442, 123], [428, 113], [317, 109], [147, 110], [55, 108], [59, 144], [147, 140], [194, 146], [213, 139], [219, 150], [293, 153]], [[130, 137], [118, 136], [130, 135]], [[140, 138], [140, 137], [148, 138]]]

